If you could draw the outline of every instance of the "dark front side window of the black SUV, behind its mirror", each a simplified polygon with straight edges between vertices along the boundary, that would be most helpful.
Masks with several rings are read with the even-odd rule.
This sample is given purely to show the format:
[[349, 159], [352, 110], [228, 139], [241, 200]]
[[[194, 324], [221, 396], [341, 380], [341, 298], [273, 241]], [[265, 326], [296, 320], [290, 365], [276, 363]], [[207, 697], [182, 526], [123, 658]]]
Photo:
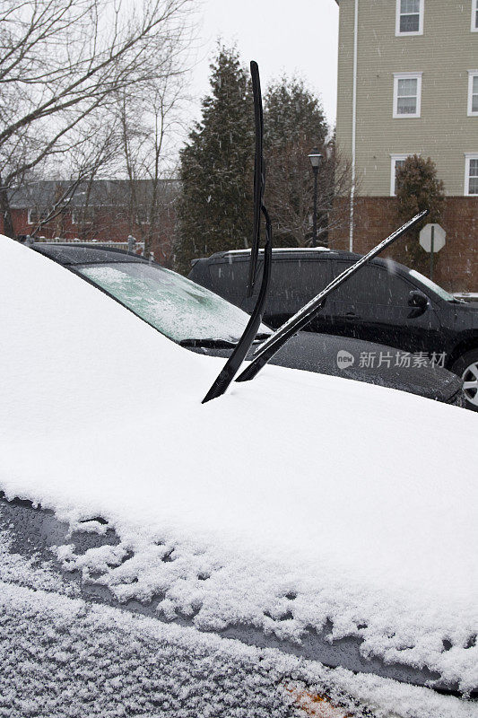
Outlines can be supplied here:
[[[336, 262], [335, 274], [339, 275], [352, 262]], [[385, 267], [369, 265], [361, 267], [334, 292], [336, 302], [407, 306], [413, 289], [401, 276]]]

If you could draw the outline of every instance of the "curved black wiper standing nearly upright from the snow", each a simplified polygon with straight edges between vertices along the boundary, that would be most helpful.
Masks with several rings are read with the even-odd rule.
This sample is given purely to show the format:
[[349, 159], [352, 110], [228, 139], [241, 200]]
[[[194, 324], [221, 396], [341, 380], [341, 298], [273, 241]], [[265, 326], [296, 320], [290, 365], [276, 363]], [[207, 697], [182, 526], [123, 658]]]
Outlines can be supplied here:
[[[259, 290], [259, 296], [257, 297], [256, 306], [248, 320], [248, 325], [244, 329], [242, 337], [230, 355], [228, 361], [225, 363], [222, 372], [219, 373], [216, 380], [213, 382], [213, 386], [207, 392], [203, 399], [203, 404], [206, 401], [210, 401], [212, 398], [221, 397], [222, 394], [227, 390], [230, 382], [234, 379], [236, 374], [239, 372], [240, 365], [244, 361], [246, 355], [254, 339], [256, 338], [257, 329], [260, 327], [262, 322], [262, 316], [264, 314], [265, 300], [267, 298], [267, 291], [269, 288], [269, 280], [271, 278], [271, 267], [273, 261], [273, 250], [272, 250], [272, 224], [265, 209], [262, 197], [264, 197], [264, 158], [262, 156], [262, 138], [264, 136], [263, 127], [263, 113], [262, 113], [262, 98], [261, 98], [261, 84], [259, 80], [259, 69], [257, 63], [252, 60], [250, 64], [250, 73], [252, 75], [252, 90], [254, 94], [254, 118], [256, 124], [256, 155], [254, 161], [254, 216], [260, 217], [262, 213], [265, 217], [265, 248], [264, 248], [264, 269], [262, 275], [261, 288]], [[258, 189], [257, 189], [258, 188]], [[259, 230], [260, 222], [254, 224], [254, 236], [252, 241], [253, 247], [258, 247], [259, 242]], [[253, 255], [251, 252], [251, 262], [253, 261]]]

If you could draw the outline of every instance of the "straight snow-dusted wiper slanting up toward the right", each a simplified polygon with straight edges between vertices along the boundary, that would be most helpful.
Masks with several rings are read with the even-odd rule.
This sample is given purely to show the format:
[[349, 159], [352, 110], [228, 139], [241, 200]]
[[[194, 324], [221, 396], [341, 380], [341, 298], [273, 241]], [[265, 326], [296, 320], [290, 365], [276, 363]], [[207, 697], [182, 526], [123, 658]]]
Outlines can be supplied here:
[[314, 299], [310, 300], [310, 302], [305, 304], [305, 306], [303, 306], [302, 309], [300, 309], [296, 314], [294, 314], [291, 319], [287, 320], [284, 324], [282, 324], [282, 327], [278, 328], [274, 332], [274, 334], [271, 335], [271, 337], [266, 339], [264, 344], [262, 344], [256, 349], [253, 361], [248, 365], [244, 372], [239, 374], [239, 377], [236, 381], [249, 381], [251, 379], [254, 379], [256, 374], [261, 371], [263, 366], [265, 366], [265, 364], [270, 359], [272, 359], [272, 357], [279, 351], [279, 349], [291, 337], [294, 337], [297, 332], [300, 331], [301, 328], [304, 328], [307, 324], [309, 324], [309, 321], [312, 320], [317, 314], [317, 312], [322, 309], [324, 303], [326, 302], [326, 298], [330, 293], [334, 292], [334, 290], [338, 286], [343, 285], [343, 283], [346, 282], [350, 276], [355, 274], [355, 272], [359, 271], [359, 269], [364, 264], [366, 264], [366, 262], [376, 257], [379, 252], [385, 250], [386, 247], [389, 247], [392, 242], [397, 240], [398, 237], [401, 237], [405, 232], [407, 232], [415, 224], [419, 223], [423, 219], [423, 217], [428, 214], [429, 210], [425, 209], [423, 212], [420, 212], [418, 215], [415, 215], [402, 227], [390, 234], [387, 239], [381, 241], [376, 247], [373, 248], [373, 250], [370, 250], [368, 254], [361, 257], [357, 262], [355, 262], [355, 264], [352, 264], [351, 267], [345, 269], [342, 274], [336, 276], [335, 279], [333, 279], [332, 282], [327, 285], [325, 289], [322, 290], [322, 292], [318, 293], [317, 296], [314, 297]]

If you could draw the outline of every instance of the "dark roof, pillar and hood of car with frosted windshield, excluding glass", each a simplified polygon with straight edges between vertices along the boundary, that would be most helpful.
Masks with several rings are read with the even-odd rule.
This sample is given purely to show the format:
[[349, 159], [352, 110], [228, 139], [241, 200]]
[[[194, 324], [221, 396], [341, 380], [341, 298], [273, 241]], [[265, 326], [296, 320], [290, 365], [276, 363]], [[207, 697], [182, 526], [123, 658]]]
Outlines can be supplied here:
[[[136, 311], [146, 321], [148, 321], [146, 315], [138, 311], [137, 308], [135, 309], [128, 297], [121, 297], [111, 285], [95, 282], [94, 276], [91, 276], [91, 272], [85, 267], [126, 265], [154, 267], [156, 272], [152, 270], [153, 275], [157, 274], [159, 277], [164, 275], [169, 279], [177, 277], [178, 281], [183, 284], [187, 283], [186, 279], [164, 270], [160, 265], [122, 250], [43, 242], [35, 243], [32, 245], [32, 249], [80, 274], [83, 279], [92, 284], [100, 286], [103, 291], [109, 293], [117, 301], [125, 303], [128, 309]], [[161, 327], [158, 322], [150, 323], [168, 335], [167, 327]], [[216, 334], [211, 337], [211, 340], [204, 340], [204, 337], [197, 338], [194, 335], [179, 337], [169, 334], [169, 337], [192, 351], [226, 358], [230, 356], [234, 342], [230, 341], [230, 333], [228, 334], [225, 329], [223, 329], [223, 335]], [[255, 348], [256, 346], [253, 347], [253, 350]], [[293, 369], [367, 381], [456, 406], [464, 404], [462, 383], [453, 373], [438, 365], [428, 365], [423, 362], [420, 364], [404, 363], [400, 351], [396, 352], [389, 346], [372, 344], [353, 337], [332, 337], [327, 334], [301, 332], [282, 347], [281, 351], [274, 356], [272, 363]]]

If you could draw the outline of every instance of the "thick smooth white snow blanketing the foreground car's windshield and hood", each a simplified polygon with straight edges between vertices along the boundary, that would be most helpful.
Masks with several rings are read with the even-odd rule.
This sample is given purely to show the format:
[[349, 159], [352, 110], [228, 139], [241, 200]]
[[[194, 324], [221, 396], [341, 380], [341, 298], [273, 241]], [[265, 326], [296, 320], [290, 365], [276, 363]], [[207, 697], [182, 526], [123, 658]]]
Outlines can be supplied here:
[[280, 367], [202, 405], [222, 360], [6, 238], [0, 286], [0, 488], [120, 538], [65, 565], [199, 628], [330, 626], [476, 685], [478, 416]]

